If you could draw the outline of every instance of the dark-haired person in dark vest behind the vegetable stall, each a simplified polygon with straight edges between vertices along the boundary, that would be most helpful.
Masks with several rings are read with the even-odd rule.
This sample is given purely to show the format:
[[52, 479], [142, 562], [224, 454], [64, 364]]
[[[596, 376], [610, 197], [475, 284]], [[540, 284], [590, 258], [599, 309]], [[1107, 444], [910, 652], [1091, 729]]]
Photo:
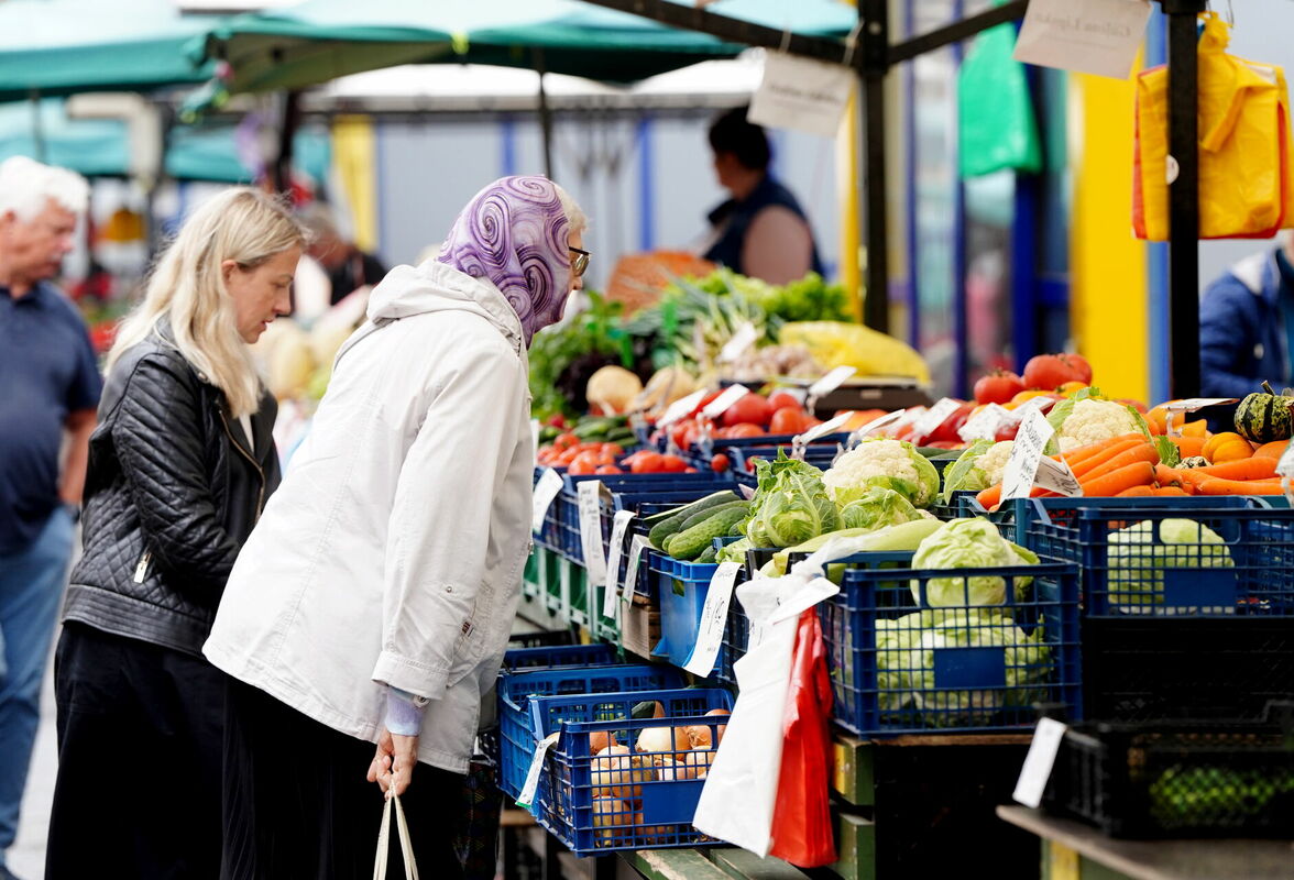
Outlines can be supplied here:
[[769, 172], [769, 137], [745, 111], [734, 107], [710, 126], [714, 173], [732, 198], [710, 211], [712, 241], [703, 256], [771, 285], [810, 270], [824, 274], [809, 217]]

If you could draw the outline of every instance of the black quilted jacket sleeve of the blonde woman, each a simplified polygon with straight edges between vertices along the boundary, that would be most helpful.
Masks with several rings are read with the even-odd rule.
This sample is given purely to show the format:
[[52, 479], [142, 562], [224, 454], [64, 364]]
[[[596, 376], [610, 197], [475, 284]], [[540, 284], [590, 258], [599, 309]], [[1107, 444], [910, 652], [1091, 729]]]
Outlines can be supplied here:
[[116, 408], [113, 445], [158, 564], [182, 584], [220, 590], [238, 545], [211, 497], [193, 382], [164, 355], [141, 358]]

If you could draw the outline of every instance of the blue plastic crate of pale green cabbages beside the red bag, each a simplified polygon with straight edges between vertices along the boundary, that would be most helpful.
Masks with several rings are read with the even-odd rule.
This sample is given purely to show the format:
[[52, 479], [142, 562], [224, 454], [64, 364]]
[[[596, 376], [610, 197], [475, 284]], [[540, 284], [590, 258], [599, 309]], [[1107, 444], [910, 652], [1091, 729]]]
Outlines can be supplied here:
[[[845, 560], [840, 594], [819, 606], [842, 727], [862, 736], [1025, 731], [1036, 703], [1083, 717], [1074, 566], [914, 571], [911, 556]], [[1002, 603], [970, 604], [972, 578], [990, 577], [1003, 585]], [[960, 603], [932, 608], [930, 595]]]

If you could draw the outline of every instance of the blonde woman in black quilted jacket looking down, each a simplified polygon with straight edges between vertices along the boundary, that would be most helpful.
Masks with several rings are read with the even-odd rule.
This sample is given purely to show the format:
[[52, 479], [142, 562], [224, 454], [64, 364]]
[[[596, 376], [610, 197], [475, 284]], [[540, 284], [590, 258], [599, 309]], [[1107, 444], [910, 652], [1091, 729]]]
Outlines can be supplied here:
[[109, 353], [56, 656], [52, 880], [219, 876], [226, 685], [202, 643], [278, 485], [248, 346], [287, 312], [304, 243], [276, 199], [214, 197]]

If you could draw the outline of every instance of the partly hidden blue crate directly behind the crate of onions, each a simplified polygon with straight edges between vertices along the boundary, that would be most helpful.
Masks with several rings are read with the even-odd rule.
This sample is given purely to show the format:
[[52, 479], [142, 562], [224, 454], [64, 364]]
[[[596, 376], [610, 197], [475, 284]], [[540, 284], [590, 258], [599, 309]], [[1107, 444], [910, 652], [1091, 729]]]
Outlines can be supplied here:
[[622, 694], [682, 687], [677, 669], [651, 665], [567, 666], [531, 669], [498, 681], [499, 788], [515, 798], [542, 739], [531, 727], [531, 700], [537, 696]]

